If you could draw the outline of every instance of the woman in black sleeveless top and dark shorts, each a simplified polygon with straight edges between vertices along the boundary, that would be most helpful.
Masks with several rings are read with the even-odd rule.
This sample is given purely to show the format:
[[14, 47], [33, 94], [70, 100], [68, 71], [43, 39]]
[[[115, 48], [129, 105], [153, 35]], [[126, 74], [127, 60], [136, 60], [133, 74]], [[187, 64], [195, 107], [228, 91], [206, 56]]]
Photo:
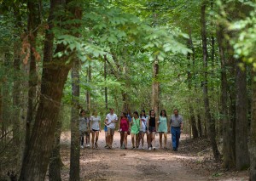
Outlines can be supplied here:
[[[157, 122], [158, 118], [155, 117], [154, 110], [149, 111], [149, 117], [148, 117], [148, 125], [147, 125], [147, 133], [148, 133], [148, 150], [155, 150], [155, 133], [157, 130]], [[153, 147], [153, 148], [152, 148]]]

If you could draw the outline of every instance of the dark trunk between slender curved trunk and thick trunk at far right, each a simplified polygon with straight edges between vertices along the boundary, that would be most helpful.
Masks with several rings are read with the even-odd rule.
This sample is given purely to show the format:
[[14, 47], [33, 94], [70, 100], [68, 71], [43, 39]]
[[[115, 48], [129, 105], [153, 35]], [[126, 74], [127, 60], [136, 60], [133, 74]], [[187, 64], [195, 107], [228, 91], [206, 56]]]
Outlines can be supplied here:
[[224, 54], [224, 28], [219, 25], [218, 49], [221, 59], [221, 105], [222, 105], [222, 127], [223, 127], [223, 166], [225, 168], [235, 167], [236, 152], [234, 150], [235, 139], [233, 138], [232, 122], [229, 117], [228, 108], [228, 80], [226, 73], [226, 59]]

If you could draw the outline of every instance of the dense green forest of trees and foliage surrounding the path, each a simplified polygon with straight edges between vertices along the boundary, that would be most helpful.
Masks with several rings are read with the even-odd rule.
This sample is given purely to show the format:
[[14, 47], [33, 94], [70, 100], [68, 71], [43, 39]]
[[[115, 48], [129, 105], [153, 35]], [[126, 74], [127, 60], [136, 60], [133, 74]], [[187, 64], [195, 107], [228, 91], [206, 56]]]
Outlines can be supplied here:
[[177, 108], [256, 180], [255, 1], [0, 1], [0, 38], [0, 180], [61, 180], [63, 131], [80, 180], [79, 112], [109, 108]]

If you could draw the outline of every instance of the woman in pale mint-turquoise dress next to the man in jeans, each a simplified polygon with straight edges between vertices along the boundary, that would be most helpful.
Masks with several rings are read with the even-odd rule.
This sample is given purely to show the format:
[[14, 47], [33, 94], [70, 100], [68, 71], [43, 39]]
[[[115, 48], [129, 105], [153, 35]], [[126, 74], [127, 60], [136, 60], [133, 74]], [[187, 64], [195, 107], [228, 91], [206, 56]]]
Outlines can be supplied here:
[[162, 149], [162, 136], [164, 134], [165, 137], [165, 145], [164, 149], [166, 148], [166, 143], [167, 143], [167, 116], [166, 116], [166, 110], [161, 110], [160, 111], [160, 116], [159, 116], [159, 121], [158, 121], [158, 133], [160, 135], [160, 149]]

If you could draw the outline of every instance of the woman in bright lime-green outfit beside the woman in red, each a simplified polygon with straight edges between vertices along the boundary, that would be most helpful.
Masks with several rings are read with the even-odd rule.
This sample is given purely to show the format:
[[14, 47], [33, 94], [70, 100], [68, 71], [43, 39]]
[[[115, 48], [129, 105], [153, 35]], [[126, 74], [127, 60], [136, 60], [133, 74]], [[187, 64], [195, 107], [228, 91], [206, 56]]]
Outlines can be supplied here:
[[[133, 117], [131, 119], [131, 143], [132, 143], [132, 149], [137, 149], [138, 147], [138, 140], [139, 140], [139, 132], [141, 129], [141, 120], [138, 116], [137, 111], [133, 112]], [[134, 138], [136, 138], [136, 147]]]

